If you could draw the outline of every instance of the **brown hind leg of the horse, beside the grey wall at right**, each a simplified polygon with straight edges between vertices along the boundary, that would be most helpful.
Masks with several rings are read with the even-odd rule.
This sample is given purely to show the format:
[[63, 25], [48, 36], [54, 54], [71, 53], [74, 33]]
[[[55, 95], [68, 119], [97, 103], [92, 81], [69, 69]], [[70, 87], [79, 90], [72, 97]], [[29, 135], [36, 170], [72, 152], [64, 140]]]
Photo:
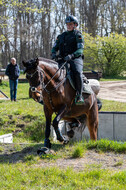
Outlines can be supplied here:
[[91, 140], [97, 140], [98, 130], [98, 109], [96, 105], [93, 105], [87, 116], [88, 129]]

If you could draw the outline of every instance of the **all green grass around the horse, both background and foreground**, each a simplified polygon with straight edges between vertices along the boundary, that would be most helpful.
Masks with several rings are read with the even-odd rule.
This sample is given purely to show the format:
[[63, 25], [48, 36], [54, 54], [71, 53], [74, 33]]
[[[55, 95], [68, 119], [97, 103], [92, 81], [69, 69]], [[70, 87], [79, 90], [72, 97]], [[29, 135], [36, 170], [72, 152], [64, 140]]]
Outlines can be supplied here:
[[[3, 82], [0, 89], [9, 96], [8, 82]], [[43, 106], [29, 99], [28, 89], [28, 83], [19, 83], [17, 102], [0, 101], [0, 135], [13, 133], [14, 137], [14, 144], [0, 144], [0, 190], [125, 190], [126, 169], [102, 169], [99, 165], [87, 166], [82, 171], [41, 167], [41, 162], [83, 158], [90, 150], [126, 154], [126, 142], [102, 139], [67, 146], [57, 142], [52, 146], [54, 154], [39, 157], [36, 151], [43, 145], [45, 117]], [[102, 102], [101, 111], [126, 111], [126, 103]]]

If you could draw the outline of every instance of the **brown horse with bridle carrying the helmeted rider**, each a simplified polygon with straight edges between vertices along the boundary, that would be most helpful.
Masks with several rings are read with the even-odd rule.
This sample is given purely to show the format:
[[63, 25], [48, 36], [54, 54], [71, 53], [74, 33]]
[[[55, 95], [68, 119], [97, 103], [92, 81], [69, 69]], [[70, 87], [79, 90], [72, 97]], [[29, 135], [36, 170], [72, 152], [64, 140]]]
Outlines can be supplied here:
[[[86, 122], [92, 140], [97, 140], [98, 129], [98, 104], [95, 93], [83, 93], [84, 104], [76, 105], [76, 90], [71, 86], [69, 79], [65, 77], [63, 69], [59, 69], [58, 64], [45, 58], [37, 58], [23, 61], [26, 67], [26, 78], [29, 81], [32, 93], [36, 101], [40, 101], [42, 92], [44, 102], [44, 113], [46, 117], [46, 131], [44, 146], [50, 148], [50, 125], [52, 114], [56, 117], [53, 120], [53, 127], [57, 135], [57, 140], [66, 142], [61, 134], [58, 123], [61, 119], [71, 123]], [[101, 106], [101, 105], [100, 105]], [[99, 106], [99, 109], [100, 109]]]

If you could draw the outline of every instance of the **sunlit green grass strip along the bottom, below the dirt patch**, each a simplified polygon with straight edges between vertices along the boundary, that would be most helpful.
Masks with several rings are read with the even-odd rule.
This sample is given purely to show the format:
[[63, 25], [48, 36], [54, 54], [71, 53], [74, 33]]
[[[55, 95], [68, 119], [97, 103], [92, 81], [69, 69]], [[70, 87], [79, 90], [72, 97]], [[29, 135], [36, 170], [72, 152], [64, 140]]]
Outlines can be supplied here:
[[0, 165], [2, 190], [122, 190], [126, 185], [126, 172], [102, 169], [75, 172], [72, 168], [42, 168], [34, 164]]

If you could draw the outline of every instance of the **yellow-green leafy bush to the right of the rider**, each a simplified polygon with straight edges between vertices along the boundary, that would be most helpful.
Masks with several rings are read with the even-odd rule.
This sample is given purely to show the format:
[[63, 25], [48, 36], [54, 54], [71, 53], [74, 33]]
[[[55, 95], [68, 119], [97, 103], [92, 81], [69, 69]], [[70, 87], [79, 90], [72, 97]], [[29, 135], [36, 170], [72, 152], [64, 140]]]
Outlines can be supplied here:
[[126, 38], [122, 34], [93, 38], [85, 34], [86, 63], [103, 72], [103, 76], [118, 76], [126, 71]]

